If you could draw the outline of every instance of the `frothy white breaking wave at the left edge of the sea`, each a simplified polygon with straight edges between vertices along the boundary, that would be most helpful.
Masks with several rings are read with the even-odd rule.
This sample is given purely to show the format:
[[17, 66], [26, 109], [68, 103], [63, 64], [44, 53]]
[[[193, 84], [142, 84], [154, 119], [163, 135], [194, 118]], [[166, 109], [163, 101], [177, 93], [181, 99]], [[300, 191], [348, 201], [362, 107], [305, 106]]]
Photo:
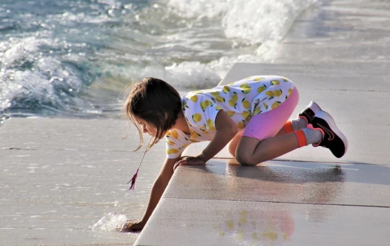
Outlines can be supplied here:
[[[66, 97], [60, 97], [60, 91], [81, 90], [83, 84], [75, 72], [58, 58], [39, 52], [42, 45], [58, 47], [59, 43], [35, 37], [0, 42], [0, 112], [27, 103], [65, 106]], [[26, 66], [29, 69], [22, 68]]]

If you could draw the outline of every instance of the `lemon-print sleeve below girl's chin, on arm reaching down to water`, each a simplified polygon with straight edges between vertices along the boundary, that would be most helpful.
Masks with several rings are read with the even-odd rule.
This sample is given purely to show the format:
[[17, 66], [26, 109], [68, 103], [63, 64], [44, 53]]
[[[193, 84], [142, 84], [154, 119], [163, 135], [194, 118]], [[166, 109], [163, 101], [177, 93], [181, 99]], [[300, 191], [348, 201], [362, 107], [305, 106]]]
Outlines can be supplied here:
[[165, 152], [168, 159], [175, 159], [180, 156], [184, 149], [191, 142], [179, 131], [169, 130], [165, 134]]

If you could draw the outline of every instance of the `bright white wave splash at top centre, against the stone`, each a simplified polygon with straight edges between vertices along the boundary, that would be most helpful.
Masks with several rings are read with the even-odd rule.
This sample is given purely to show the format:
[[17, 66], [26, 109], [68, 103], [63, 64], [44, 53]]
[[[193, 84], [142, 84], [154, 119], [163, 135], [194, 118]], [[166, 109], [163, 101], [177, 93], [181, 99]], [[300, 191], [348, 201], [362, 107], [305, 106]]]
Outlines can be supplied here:
[[260, 44], [280, 40], [292, 22], [317, 0], [169, 0], [185, 18], [221, 19], [226, 38]]

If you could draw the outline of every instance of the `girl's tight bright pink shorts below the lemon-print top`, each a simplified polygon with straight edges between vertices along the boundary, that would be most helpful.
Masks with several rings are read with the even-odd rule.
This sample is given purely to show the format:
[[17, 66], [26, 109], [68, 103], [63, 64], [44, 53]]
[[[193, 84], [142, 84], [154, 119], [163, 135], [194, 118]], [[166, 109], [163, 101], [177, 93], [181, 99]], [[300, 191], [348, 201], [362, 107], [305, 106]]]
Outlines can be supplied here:
[[274, 137], [289, 120], [298, 101], [299, 93], [294, 87], [290, 97], [275, 109], [253, 116], [245, 126], [242, 136], [258, 140]]

